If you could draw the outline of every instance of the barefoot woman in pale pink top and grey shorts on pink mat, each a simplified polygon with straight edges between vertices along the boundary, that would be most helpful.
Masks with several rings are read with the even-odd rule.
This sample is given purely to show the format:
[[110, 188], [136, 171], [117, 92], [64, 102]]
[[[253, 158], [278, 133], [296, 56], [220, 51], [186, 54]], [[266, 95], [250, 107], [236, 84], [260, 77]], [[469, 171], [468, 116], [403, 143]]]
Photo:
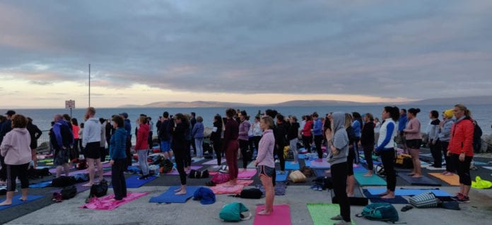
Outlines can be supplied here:
[[275, 183], [275, 162], [274, 148], [275, 136], [274, 120], [270, 116], [263, 116], [260, 122], [262, 130], [262, 140], [259, 141], [258, 157], [254, 161], [255, 166], [259, 166], [259, 179], [265, 188], [265, 208], [258, 212], [259, 215], [268, 215], [274, 211], [274, 183]]

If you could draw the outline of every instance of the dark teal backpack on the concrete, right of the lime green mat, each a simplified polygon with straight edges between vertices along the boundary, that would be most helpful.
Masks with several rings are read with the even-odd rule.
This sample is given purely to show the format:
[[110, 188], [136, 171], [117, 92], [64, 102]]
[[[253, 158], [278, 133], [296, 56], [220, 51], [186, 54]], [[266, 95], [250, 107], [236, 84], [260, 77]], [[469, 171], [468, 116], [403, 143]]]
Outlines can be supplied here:
[[366, 205], [361, 214], [356, 217], [365, 217], [365, 219], [377, 221], [398, 221], [398, 212], [393, 205], [386, 202], [377, 202]]

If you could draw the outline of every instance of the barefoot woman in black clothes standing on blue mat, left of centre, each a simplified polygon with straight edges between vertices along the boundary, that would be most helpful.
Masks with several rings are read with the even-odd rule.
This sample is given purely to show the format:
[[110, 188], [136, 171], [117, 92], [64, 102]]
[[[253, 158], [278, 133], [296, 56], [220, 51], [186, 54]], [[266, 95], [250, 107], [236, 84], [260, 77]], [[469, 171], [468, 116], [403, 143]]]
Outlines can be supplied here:
[[172, 151], [175, 154], [176, 169], [180, 174], [181, 187], [175, 190], [175, 195], [186, 195], [186, 172], [185, 172], [185, 157], [186, 152], [189, 152], [189, 144], [186, 140], [186, 133], [191, 124], [188, 121], [188, 116], [184, 114], [176, 114], [174, 116], [175, 128], [172, 131]]

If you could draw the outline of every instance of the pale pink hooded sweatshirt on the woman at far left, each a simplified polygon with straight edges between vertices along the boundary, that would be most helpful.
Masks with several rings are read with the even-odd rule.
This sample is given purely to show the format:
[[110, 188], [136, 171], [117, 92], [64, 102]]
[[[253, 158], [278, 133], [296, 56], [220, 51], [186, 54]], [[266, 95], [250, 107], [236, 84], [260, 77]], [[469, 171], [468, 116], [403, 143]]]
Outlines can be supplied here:
[[26, 128], [13, 128], [1, 142], [1, 156], [7, 165], [22, 165], [31, 161], [30, 134]]

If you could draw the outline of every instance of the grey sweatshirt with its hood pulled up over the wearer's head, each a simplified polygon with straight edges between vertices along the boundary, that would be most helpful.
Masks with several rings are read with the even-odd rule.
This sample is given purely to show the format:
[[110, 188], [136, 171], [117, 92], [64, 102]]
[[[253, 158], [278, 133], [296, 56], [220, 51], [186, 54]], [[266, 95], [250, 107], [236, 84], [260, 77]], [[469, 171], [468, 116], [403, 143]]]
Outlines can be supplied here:
[[339, 151], [338, 154], [333, 154], [329, 150], [328, 162], [332, 165], [347, 162], [348, 156], [348, 135], [345, 130], [345, 114], [342, 112], [336, 112], [333, 116], [333, 146]]

